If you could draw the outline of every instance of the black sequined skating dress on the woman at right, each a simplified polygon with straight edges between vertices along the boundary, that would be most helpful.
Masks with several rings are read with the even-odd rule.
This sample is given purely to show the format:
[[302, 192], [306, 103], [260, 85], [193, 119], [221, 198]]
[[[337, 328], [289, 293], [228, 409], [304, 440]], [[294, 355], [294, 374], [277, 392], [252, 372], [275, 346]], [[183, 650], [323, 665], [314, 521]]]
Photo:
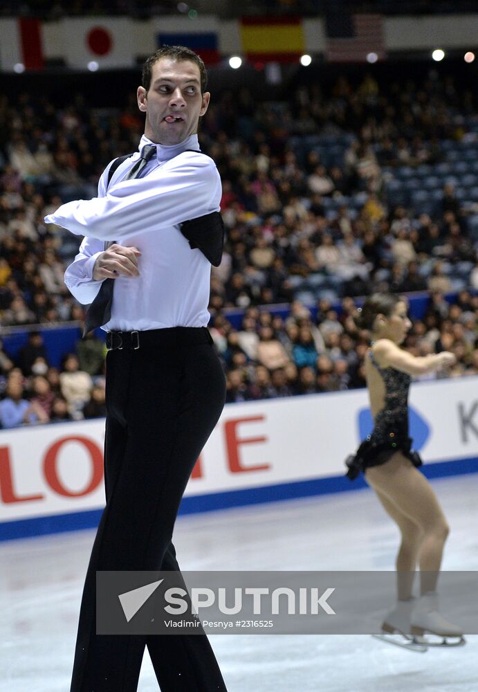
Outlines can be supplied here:
[[345, 460], [350, 480], [370, 466], [385, 464], [398, 451], [408, 457], [414, 466], [422, 464], [419, 455], [412, 451], [412, 439], [408, 435], [410, 375], [393, 367], [380, 367], [371, 351], [369, 358], [385, 383], [385, 404], [376, 415], [374, 430], [362, 442], [355, 455], [350, 455]]

